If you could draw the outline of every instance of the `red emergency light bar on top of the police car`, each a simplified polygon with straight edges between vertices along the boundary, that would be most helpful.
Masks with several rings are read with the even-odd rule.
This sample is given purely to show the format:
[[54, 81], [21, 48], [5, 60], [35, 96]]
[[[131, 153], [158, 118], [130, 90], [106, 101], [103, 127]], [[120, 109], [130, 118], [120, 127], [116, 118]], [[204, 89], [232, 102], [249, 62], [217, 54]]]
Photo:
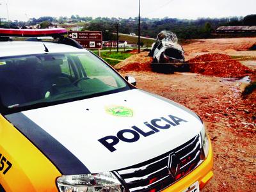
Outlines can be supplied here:
[[60, 36], [67, 35], [67, 29], [0, 29], [0, 36]]

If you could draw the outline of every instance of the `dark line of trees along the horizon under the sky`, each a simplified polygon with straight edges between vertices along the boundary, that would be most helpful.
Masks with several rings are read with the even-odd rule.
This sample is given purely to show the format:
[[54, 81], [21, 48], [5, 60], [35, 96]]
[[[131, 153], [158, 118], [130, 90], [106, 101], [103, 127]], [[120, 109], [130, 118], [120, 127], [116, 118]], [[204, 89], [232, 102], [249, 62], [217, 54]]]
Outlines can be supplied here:
[[[26, 28], [27, 26], [38, 25], [38, 28], [48, 28], [49, 26], [65, 26], [65, 24], [83, 26], [84, 30], [103, 31], [104, 40], [113, 38], [116, 32], [116, 24], [120, 24], [120, 33], [138, 34], [138, 17], [122, 19], [108, 17], [80, 17], [72, 15], [68, 17], [40, 17], [31, 18], [27, 22], [14, 20], [12, 22], [0, 22], [1, 28]], [[156, 38], [160, 31], [168, 30], [176, 33], [180, 39], [210, 38], [211, 33], [219, 26], [256, 26], [256, 15], [246, 17], [227, 17], [227, 18], [199, 18], [196, 20], [177, 19], [164, 17], [163, 19], [141, 18], [141, 35]]]

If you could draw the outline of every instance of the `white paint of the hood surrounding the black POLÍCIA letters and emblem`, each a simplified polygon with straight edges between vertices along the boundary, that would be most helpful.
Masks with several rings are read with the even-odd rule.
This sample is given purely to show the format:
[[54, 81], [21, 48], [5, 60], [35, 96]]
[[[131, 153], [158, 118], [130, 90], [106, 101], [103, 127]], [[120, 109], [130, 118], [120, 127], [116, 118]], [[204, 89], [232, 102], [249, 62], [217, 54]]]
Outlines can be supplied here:
[[[109, 115], [106, 112], [108, 106], [130, 108], [133, 116]], [[203, 127], [195, 114], [188, 113], [178, 104], [137, 89], [22, 113], [70, 150], [92, 173], [117, 170], [152, 159], [179, 147], [199, 134]], [[170, 129], [159, 129], [147, 137], [140, 134], [140, 140], [133, 143], [119, 141], [114, 152], [98, 141], [105, 136], [116, 136], [122, 129], [132, 129], [134, 125], [148, 131], [144, 122], [162, 116], [168, 118], [168, 115], [188, 122], [180, 122]]]

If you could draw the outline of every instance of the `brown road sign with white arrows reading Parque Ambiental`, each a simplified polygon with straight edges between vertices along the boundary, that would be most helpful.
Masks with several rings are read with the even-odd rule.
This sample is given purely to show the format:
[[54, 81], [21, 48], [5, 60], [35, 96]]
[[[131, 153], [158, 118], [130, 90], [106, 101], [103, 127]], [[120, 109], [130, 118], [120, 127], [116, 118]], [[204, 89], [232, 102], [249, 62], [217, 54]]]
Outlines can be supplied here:
[[68, 37], [76, 40], [84, 48], [102, 49], [101, 31], [68, 31]]

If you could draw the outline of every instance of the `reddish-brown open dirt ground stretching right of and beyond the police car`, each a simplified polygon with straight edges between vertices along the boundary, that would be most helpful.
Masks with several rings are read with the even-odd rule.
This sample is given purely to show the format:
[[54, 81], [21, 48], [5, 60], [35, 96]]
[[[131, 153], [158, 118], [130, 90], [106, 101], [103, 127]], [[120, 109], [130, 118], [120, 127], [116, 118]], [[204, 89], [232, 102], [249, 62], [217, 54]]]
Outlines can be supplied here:
[[[216, 49], [216, 45], [212, 43], [214, 41], [214, 44], [223, 42], [218, 46], [218, 49], [223, 49], [221, 51], [236, 49], [232, 51], [236, 53], [241, 47], [252, 45], [252, 38], [237, 40], [240, 45], [236, 45], [236, 39], [209, 40], [209, 44], [204, 46], [195, 45], [197, 43], [186, 45], [184, 48], [188, 51], [187, 56], [202, 54], [205, 47], [209, 49], [212, 46], [210, 51]], [[253, 41], [255, 43], [256, 38]], [[235, 44], [233, 47], [230, 47], [231, 42]], [[243, 54], [248, 54], [248, 51], [239, 51], [239, 55]], [[256, 54], [256, 51], [250, 54]], [[136, 54], [120, 64], [123, 67], [120, 68], [123, 76], [134, 76], [138, 88], [179, 102], [198, 113], [206, 122], [214, 150], [214, 177], [203, 191], [255, 191], [256, 92], [242, 99], [241, 87], [244, 84], [221, 77], [193, 73], [159, 74], [148, 71], [148, 68], [141, 71], [141, 68], [138, 70], [126, 67], [125, 70], [124, 65], [136, 60], [139, 62], [133, 63], [134, 65], [140, 65], [143, 61], [150, 63], [147, 53]], [[255, 60], [250, 60], [248, 67], [255, 70], [255, 63]]]

